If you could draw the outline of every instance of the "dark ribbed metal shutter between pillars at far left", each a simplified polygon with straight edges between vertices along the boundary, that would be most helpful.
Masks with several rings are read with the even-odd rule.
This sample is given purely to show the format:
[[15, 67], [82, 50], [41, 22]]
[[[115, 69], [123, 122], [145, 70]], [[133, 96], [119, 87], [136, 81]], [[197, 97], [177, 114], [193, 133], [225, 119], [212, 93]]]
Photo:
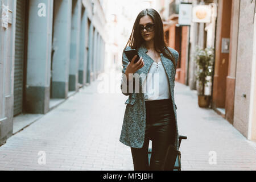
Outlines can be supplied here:
[[17, 0], [14, 66], [14, 115], [22, 113], [25, 1]]

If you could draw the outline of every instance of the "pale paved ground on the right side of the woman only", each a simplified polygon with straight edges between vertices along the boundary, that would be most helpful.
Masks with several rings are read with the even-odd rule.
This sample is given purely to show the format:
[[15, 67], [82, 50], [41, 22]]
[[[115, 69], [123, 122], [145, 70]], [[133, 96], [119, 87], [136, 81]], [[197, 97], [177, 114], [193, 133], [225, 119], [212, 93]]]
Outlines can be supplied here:
[[200, 108], [195, 90], [175, 83], [175, 102], [179, 135], [188, 137], [180, 146], [183, 170], [256, 170], [256, 142], [212, 109]]

